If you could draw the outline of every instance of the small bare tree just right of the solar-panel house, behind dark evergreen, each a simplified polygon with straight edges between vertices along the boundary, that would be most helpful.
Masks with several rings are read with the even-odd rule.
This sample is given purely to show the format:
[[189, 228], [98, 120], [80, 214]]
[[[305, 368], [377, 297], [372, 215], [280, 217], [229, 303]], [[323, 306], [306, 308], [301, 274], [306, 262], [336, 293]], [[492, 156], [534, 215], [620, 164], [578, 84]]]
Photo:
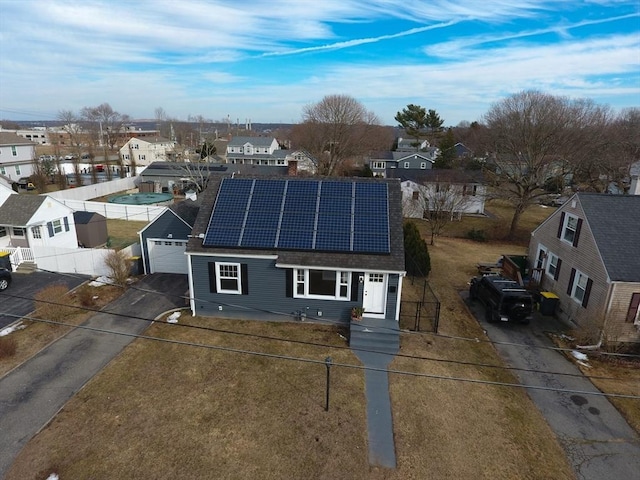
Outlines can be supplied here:
[[452, 221], [460, 219], [469, 203], [466, 186], [451, 182], [429, 182], [405, 194], [403, 211], [405, 216], [422, 217], [429, 224], [431, 245]]

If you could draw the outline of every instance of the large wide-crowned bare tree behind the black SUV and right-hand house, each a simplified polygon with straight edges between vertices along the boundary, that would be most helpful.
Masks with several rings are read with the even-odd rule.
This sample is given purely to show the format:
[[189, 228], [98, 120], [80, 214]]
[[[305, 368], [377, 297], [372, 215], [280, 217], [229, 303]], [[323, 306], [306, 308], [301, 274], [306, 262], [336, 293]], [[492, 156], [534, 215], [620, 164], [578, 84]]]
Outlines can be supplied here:
[[599, 139], [594, 127], [603, 117], [603, 109], [592, 102], [538, 91], [514, 94], [489, 109], [486, 178], [495, 195], [514, 207], [509, 237], [522, 213], [546, 193], [549, 178], [564, 176], [594, 153]]

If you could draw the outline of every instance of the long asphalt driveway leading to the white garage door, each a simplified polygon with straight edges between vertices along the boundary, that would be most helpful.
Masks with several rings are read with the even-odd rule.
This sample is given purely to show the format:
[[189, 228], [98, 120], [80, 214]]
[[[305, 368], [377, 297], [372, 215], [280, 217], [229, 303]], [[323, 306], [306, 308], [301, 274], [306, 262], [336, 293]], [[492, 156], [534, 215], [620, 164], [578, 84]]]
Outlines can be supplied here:
[[[180, 295], [186, 290], [186, 275], [149, 275], [83, 325], [142, 333], [160, 313], [184, 307]], [[0, 379], [0, 478], [31, 437], [133, 340], [78, 328]]]

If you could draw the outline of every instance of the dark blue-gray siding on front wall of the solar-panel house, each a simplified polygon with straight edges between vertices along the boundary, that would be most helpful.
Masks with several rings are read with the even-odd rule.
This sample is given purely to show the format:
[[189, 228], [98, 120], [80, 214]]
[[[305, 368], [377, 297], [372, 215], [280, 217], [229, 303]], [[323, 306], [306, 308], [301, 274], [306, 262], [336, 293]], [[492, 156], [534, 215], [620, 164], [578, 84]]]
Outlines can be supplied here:
[[[246, 265], [246, 295], [212, 293], [209, 287], [209, 263], [234, 262]], [[349, 323], [351, 308], [362, 305], [363, 285], [356, 282], [356, 300], [319, 300], [287, 296], [287, 270], [276, 268], [275, 259], [236, 258], [191, 255], [195, 313], [222, 318], [269, 321]], [[357, 272], [356, 272], [357, 273]], [[357, 277], [357, 276], [356, 276]], [[391, 275], [389, 285], [398, 284], [398, 275]], [[393, 297], [393, 298], [392, 298]], [[395, 315], [397, 294], [389, 295], [387, 317]], [[220, 310], [222, 307], [222, 310]]]

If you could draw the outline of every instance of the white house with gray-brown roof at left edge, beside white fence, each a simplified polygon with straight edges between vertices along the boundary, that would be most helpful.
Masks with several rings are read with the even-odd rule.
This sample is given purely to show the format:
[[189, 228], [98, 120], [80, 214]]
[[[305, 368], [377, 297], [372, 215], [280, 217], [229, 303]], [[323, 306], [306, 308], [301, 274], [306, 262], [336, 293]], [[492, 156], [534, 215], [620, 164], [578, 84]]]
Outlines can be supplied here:
[[77, 248], [73, 210], [46, 195], [9, 195], [0, 205], [0, 247]]

